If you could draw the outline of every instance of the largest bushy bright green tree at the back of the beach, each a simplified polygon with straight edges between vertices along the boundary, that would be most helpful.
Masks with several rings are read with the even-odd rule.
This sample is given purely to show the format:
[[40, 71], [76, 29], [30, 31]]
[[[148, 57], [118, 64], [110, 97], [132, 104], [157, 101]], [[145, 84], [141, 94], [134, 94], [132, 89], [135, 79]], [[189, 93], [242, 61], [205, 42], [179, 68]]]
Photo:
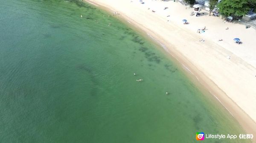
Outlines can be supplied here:
[[221, 0], [218, 8], [223, 17], [242, 17], [250, 10], [248, 0]]

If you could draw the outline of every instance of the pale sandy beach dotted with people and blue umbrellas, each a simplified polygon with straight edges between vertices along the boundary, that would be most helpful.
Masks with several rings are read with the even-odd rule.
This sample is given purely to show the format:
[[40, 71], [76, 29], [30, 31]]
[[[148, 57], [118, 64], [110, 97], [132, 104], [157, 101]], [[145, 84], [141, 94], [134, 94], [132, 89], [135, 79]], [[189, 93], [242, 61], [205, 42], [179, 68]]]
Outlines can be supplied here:
[[[209, 17], [209, 11], [201, 11], [201, 17], [190, 16], [193, 9], [177, 1], [143, 1], [88, 2], [108, 8], [113, 14], [118, 12], [116, 17], [165, 45], [166, 51], [188, 68], [248, 133], [256, 135], [256, 30], [224, 22], [221, 17]], [[183, 19], [189, 24], [183, 24]], [[198, 34], [197, 30], [204, 26], [205, 32]], [[243, 44], [236, 44], [236, 37]]]

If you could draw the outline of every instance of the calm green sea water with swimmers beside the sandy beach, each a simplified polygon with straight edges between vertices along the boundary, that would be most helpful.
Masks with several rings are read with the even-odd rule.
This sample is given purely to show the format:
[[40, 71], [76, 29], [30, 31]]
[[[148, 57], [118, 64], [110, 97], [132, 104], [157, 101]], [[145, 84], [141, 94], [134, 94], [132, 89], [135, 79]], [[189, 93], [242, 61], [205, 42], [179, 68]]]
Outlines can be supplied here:
[[245, 133], [164, 50], [107, 12], [77, 0], [0, 3], [0, 143], [197, 143], [196, 132]]

